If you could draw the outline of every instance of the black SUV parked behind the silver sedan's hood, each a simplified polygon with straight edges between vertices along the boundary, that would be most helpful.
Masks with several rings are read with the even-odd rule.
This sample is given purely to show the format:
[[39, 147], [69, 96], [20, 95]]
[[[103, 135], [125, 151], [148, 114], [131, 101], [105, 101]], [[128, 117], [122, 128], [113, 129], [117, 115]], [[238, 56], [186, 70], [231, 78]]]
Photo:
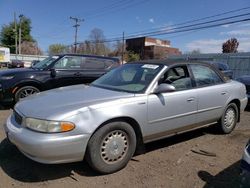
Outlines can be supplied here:
[[40, 91], [90, 83], [120, 65], [118, 58], [63, 54], [50, 56], [31, 68], [0, 71], [0, 104], [12, 105]]

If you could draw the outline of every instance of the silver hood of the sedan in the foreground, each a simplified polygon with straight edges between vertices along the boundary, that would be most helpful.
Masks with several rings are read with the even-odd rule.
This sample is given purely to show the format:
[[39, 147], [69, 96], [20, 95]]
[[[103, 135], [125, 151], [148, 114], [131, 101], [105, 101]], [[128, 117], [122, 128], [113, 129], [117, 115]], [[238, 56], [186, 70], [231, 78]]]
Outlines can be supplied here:
[[134, 94], [102, 89], [94, 86], [75, 85], [48, 90], [18, 102], [16, 111], [26, 117], [63, 119], [75, 115], [91, 105], [132, 97]]

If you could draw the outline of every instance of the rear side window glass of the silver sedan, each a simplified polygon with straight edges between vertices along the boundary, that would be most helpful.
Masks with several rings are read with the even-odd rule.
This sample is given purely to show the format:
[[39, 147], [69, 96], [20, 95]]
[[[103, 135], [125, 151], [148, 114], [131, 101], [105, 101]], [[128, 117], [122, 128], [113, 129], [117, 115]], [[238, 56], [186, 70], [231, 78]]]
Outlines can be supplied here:
[[220, 76], [211, 68], [204, 65], [190, 65], [197, 87], [222, 83]]

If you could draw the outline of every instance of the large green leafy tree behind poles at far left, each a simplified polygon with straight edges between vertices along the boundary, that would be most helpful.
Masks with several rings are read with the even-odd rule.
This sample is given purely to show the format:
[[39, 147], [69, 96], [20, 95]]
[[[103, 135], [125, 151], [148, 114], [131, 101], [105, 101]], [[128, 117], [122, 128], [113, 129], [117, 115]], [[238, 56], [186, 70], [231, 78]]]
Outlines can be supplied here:
[[3, 25], [0, 33], [0, 41], [3, 46], [9, 47], [11, 53], [15, 53], [15, 36], [17, 34], [17, 40], [19, 40], [18, 31], [21, 25], [21, 43], [24, 41], [35, 42], [31, 36], [31, 20], [25, 16], [17, 23], [17, 30], [15, 30], [15, 23], [10, 22], [8, 25]]

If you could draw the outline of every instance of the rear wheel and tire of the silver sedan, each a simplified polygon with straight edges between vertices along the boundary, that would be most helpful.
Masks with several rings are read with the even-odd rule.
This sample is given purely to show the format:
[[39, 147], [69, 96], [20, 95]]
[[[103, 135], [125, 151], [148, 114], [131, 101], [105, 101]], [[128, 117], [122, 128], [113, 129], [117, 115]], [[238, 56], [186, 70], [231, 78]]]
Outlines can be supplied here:
[[231, 133], [237, 123], [239, 117], [238, 107], [235, 103], [230, 103], [227, 105], [226, 110], [224, 111], [221, 119], [219, 129], [224, 134]]

